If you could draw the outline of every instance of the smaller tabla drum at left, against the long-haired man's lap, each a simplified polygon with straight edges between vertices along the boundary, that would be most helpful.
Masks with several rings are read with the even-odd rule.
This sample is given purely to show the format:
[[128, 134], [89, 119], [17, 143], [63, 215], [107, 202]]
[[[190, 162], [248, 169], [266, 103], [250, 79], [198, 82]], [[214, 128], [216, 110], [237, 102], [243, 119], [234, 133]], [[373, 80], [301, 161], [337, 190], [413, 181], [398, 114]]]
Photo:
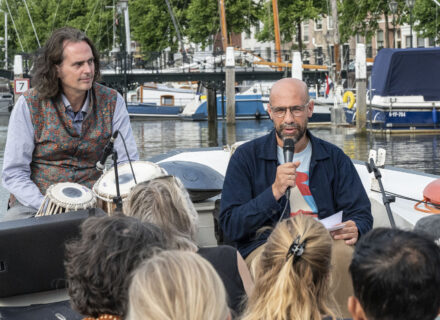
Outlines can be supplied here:
[[47, 188], [43, 203], [35, 216], [53, 215], [62, 212], [96, 207], [92, 190], [73, 182], [61, 182]]

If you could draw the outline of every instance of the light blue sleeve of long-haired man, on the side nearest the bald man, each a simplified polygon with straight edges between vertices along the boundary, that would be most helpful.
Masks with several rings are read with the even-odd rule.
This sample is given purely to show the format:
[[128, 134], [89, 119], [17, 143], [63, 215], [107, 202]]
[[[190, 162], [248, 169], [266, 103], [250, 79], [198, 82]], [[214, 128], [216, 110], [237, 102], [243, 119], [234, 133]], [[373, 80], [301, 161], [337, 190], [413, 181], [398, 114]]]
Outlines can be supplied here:
[[[128, 161], [127, 152], [130, 156], [130, 160], [139, 160], [139, 155], [136, 147], [136, 141], [133, 137], [133, 131], [130, 125], [130, 117], [128, 115], [127, 107], [122, 96], [118, 93], [116, 102], [115, 114], [113, 115], [113, 133], [119, 130], [119, 135], [115, 140], [114, 148], [118, 153], [118, 163], [124, 163]], [[125, 150], [122, 137], [127, 145], [127, 151]]]

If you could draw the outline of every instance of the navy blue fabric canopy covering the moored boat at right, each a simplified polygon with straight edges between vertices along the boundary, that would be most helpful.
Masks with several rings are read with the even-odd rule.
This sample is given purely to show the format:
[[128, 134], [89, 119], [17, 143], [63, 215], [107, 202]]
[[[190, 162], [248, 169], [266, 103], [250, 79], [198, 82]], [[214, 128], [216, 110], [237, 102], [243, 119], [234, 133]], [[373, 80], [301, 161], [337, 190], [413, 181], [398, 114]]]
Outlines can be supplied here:
[[440, 48], [381, 49], [371, 73], [372, 95], [440, 100]]

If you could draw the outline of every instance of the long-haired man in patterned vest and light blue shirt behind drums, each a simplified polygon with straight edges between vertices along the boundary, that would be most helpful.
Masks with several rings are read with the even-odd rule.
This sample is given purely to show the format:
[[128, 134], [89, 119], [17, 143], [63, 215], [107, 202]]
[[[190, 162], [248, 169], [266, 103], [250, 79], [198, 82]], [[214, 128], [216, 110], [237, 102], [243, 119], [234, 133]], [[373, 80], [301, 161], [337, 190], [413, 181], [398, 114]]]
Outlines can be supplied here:
[[121, 95], [97, 83], [99, 54], [81, 31], [55, 30], [37, 57], [33, 88], [12, 111], [3, 162], [3, 186], [11, 193], [0, 221], [33, 216], [47, 188], [59, 182], [92, 187], [95, 165], [110, 137], [119, 162], [138, 159]]

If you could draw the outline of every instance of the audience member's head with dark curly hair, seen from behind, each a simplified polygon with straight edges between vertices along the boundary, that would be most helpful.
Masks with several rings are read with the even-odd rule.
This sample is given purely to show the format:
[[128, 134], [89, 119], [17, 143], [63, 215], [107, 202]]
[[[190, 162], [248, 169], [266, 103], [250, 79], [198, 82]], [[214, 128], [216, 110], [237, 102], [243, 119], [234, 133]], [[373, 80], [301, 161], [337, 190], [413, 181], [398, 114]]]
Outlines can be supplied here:
[[73, 308], [92, 317], [125, 316], [131, 272], [165, 245], [163, 232], [153, 224], [122, 215], [88, 218], [80, 239], [66, 246]]

